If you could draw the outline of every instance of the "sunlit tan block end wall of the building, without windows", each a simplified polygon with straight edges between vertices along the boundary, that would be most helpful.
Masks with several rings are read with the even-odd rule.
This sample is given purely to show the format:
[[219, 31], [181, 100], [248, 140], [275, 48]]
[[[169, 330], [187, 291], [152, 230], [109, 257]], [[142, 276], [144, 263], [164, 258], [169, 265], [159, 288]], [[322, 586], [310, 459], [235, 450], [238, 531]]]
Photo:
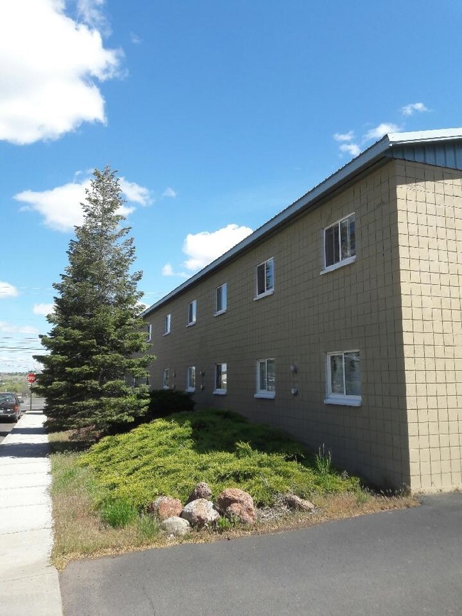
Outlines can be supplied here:
[[397, 162], [411, 487], [462, 486], [462, 173]]

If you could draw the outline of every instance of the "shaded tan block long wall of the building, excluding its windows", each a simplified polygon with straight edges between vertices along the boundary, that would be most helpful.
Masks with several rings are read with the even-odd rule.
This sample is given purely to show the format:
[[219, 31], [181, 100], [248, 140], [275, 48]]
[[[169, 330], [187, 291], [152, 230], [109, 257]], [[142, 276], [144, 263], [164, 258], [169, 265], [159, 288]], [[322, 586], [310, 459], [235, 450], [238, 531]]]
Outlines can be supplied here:
[[[323, 229], [352, 212], [356, 261], [321, 274]], [[255, 268], [270, 257], [274, 294], [255, 301]], [[390, 161], [149, 315], [158, 357], [151, 387], [161, 387], [168, 367], [176, 374], [172, 384], [185, 389], [186, 368], [194, 365], [198, 407], [233, 409], [272, 423], [313, 450], [325, 445], [340, 468], [377, 485], [409, 485], [400, 259]], [[215, 287], [224, 282], [227, 312], [214, 317]], [[187, 328], [193, 299], [197, 323]], [[167, 313], [171, 334], [163, 336]], [[339, 350], [360, 351], [362, 406], [324, 403], [326, 353]], [[255, 399], [256, 362], [268, 357], [276, 360], [276, 397]], [[213, 395], [216, 362], [227, 362], [226, 396]]]

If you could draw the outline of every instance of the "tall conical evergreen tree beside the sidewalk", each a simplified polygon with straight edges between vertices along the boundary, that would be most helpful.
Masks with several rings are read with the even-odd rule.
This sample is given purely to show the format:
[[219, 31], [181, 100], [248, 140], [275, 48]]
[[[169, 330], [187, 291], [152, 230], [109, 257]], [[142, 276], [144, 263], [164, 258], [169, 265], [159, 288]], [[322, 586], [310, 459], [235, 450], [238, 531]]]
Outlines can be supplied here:
[[131, 273], [134, 242], [122, 227], [124, 204], [119, 180], [107, 166], [95, 170], [82, 203], [84, 222], [75, 227], [68, 249], [69, 264], [61, 281], [49, 335], [41, 336], [49, 355], [36, 390], [45, 396], [45, 414], [53, 429], [93, 426], [107, 430], [146, 413], [146, 328], [140, 318], [137, 283]]

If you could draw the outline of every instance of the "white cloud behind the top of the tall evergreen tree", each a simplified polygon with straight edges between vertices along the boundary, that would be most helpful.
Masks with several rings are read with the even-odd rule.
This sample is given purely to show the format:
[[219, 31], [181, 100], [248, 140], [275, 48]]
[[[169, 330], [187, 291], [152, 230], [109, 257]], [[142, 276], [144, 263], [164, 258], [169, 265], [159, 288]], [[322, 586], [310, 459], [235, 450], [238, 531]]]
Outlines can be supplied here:
[[[85, 201], [85, 188], [90, 189], [90, 178], [82, 178], [80, 182], [75, 179], [63, 186], [41, 192], [23, 190], [22, 193], [14, 195], [14, 199], [27, 204], [23, 209], [41, 214], [45, 225], [50, 229], [68, 232], [72, 231], [75, 225], [82, 225], [83, 212], [80, 203]], [[120, 188], [129, 202], [140, 205], [151, 202], [149, 190], [143, 186], [120, 178]], [[119, 213], [127, 216], [133, 211], [134, 207], [124, 205]]]

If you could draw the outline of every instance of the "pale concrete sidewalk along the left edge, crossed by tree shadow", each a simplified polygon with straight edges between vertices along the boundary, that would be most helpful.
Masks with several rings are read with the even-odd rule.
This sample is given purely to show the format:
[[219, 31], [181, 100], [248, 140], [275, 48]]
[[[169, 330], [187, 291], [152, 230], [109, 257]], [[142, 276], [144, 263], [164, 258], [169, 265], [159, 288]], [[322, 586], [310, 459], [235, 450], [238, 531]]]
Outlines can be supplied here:
[[62, 616], [53, 545], [45, 417], [28, 411], [0, 443], [0, 611]]

